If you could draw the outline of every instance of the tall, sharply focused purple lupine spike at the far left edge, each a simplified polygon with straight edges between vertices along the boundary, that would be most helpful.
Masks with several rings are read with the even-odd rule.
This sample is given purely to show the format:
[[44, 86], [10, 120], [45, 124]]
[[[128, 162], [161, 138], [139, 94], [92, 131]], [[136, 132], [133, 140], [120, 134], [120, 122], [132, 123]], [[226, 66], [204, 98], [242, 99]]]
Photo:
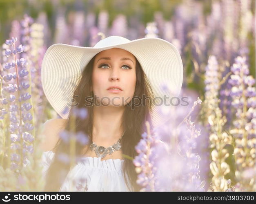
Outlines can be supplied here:
[[[6, 109], [9, 111], [9, 129], [10, 135], [9, 137], [11, 138], [11, 144], [10, 147], [15, 147], [16, 145], [13, 145], [13, 143], [20, 142], [22, 143], [23, 138], [20, 136], [22, 135], [22, 115], [25, 115], [24, 110], [22, 110], [22, 104], [19, 100], [16, 100], [16, 92], [18, 91], [17, 95], [21, 95], [23, 100], [25, 99], [24, 97], [28, 97], [26, 93], [20, 88], [19, 84], [24, 84], [27, 78], [22, 78], [27, 75], [25, 71], [25, 66], [27, 64], [27, 60], [24, 58], [20, 58], [20, 54], [24, 51], [24, 47], [22, 45], [19, 45], [18, 48], [16, 49], [16, 42], [17, 38], [11, 38], [11, 40], [6, 40], [6, 44], [4, 47], [5, 49], [5, 57], [4, 62], [4, 70], [3, 70], [3, 79], [4, 83], [2, 84], [2, 95], [3, 97], [3, 103], [6, 106]], [[18, 74], [19, 73], [19, 74]], [[27, 85], [27, 84], [24, 84]], [[10, 94], [11, 93], [11, 94]], [[12, 94], [13, 93], [13, 94]], [[8, 100], [6, 100], [8, 99]], [[4, 111], [1, 111], [0, 119], [4, 119]], [[29, 115], [26, 115], [27, 119], [31, 118]], [[6, 122], [6, 120], [4, 120]], [[27, 129], [27, 131], [33, 129], [31, 125], [25, 124], [24, 129]], [[4, 137], [8, 137], [8, 135], [4, 135]], [[8, 141], [8, 140], [7, 140]], [[6, 144], [4, 144], [6, 145]], [[21, 154], [20, 160], [13, 160], [14, 162], [11, 162], [12, 168], [16, 168], [17, 166], [23, 166], [24, 162], [24, 149], [21, 151], [19, 150], [16, 151], [16, 149], [13, 150], [13, 155], [16, 154]]]

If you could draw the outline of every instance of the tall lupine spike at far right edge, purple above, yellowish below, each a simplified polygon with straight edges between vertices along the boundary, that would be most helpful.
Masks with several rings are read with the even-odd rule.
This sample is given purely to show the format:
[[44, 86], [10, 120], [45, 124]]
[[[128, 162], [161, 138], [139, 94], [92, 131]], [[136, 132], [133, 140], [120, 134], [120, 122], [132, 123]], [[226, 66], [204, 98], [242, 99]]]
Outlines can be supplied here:
[[[248, 160], [253, 160], [254, 155], [252, 155], [252, 148], [255, 148], [255, 142], [253, 138], [255, 137], [255, 79], [249, 75], [249, 68], [247, 65], [246, 57], [238, 56], [235, 58], [235, 63], [231, 67], [232, 75], [231, 78], [240, 77], [239, 83], [233, 83], [229, 80], [229, 84], [232, 85], [231, 93], [232, 96], [232, 108], [235, 113], [235, 120], [233, 120], [233, 127], [229, 131], [234, 138], [238, 139], [236, 141], [236, 146], [234, 149], [236, 157], [236, 166], [238, 171], [245, 172], [247, 168], [246, 162], [243, 162], [244, 157]], [[240, 139], [247, 140], [247, 144], [239, 142]], [[252, 144], [252, 146], [248, 145]], [[242, 154], [241, 151], [247, 152], [247, 154]], [[242, 161], [242, 162], [241, 162]], [[253, 164], [255, 165], [255, 160]], [[250, 178], [243, 178], [240, 182], [244, 185], [247, 184]]]

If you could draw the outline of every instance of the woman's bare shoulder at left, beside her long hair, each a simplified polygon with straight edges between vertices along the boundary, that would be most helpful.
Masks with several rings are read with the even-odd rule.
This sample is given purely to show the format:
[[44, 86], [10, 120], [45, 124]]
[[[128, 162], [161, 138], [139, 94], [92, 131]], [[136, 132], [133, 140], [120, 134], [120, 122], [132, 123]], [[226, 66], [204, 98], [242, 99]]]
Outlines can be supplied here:
[[42, 126], [42, 142], [40, 148], [42, 151], [52, 150], [59, 140], [59, 135], [61, 130], [65, 128], [67, 119], [62, 118], [52, 118], [47, 121]]

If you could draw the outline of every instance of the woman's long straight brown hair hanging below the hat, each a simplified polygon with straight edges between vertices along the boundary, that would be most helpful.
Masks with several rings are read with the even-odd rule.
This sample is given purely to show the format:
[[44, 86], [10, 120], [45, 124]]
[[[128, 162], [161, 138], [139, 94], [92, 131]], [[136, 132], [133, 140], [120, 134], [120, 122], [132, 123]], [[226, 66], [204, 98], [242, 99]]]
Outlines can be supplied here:
[[[75, 122], [75, 132], [82, 131], [86, 135], [92, 135], [92, 121], [93, 121], [93, 106], [85, 106], [85, 97], [90, 97], [90, 87], [92, 86], [92, 71], [93, 71], [93, 62], [96, 55], [90, 60], [90, 62], [85, 67], [82, 72], [81, 80], [74, 91], [73, 98], [75, 95], [78, 106], [76, 108], [86, 108], [87, 109], [87, 118], [81, 119], [76, 117]], [[134, 106], [133, 103], [135, 98], [142, 99], [142, 95], [148, 100], [145, 100], [145, 104], [142, 106]], [[138, 153], [136, 152], [135, 146], [138, 144], [141, 135], [146, 131], [145, 121], [149, 121], [152, 126], [151, 118], [149, 112], [152, 110], [151, 100], [154, 97], [153, 91], [149, 84], [149, 81], [140, 65], [138, 60], [136, 59], [136, 87], [135, 93], [132, 100], [129, 102], [131, 106], [125, 105], [125, 111], [122, 116], [122, 126], [125, 130], [125, 134], [121, 140], [122, 153], [128, 155], [129, 157], [136, 157]], [[92, 98], [93, 100], [93, 98]], [[138, 103], [138, 102], [137, 102]], [[71, 107], [71, 111], [69, 112], [69, 117], [65, 122], [63, 129], [70, 131], [71, 127], [71, 115], [73, 114], [74, 107]], [[91, 138], [92, 140], [92, 138]], [[89, 140], [89, 142], [92, 142]], [[90, 144], [90, 143], [89, 143]], [[79, 142], [76, 142], [76, 156], [79, 156], [84, 146]], [[55, 153], [53, 157], [53, 161], [51, 162], [47, 174], [46, 174], [46, 184], [44, 191], [59, 191], [60, 187], [67, 176], [67, 173], [70, 170], [69, 164], [58, 160], [58, 155], [60, 153], [65, 153], [69, 155], [69, 142], [63, 141], [59, 138], [56, 146], [52, 149]], [[125, 161], [123, 163], [123, 173], [125, 178], [125, 183], [129, 188], [129, 191], [139, 191], [142, 186], [136, 183], [137, 173], [135, 171], [135, 166], [131, 159], [125, 157]], [[128, 178], [126, 177], [128, 175]], [[128, 179], [130, 185], [128, 184]]]

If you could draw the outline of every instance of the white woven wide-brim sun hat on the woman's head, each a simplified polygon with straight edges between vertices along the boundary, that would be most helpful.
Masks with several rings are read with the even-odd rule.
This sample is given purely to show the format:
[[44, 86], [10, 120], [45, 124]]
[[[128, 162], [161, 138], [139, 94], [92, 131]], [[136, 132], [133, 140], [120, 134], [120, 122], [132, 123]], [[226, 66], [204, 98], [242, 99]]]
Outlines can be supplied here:
[[[177, 97], [183, 82], [183, 64], [176, 47], [160, 38], [128, 40], [121, 36], [109, 36], [94, 47], [79, 47], [69, 44], [51, 45], [42, 60], [41, 81], [45, 96], [60, 117], [67, 119], [73, 93], [78, 86], [82, 71], [100, 51], [121, 48], [132, 53], [144, 70], [154, 97]], [[173, 92], [165, 92], [163, 83]], [[157, 105], [150, 113], [153, 125], [161, 124]]]

